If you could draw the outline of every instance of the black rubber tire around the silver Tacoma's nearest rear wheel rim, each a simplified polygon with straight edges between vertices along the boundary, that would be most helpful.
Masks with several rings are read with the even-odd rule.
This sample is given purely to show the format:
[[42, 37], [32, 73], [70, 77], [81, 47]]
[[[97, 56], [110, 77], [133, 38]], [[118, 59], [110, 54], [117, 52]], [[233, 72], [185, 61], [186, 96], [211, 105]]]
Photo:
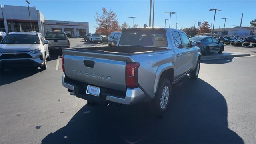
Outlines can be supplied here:
[[[164, 90], [165, 87], [168, 87], [169, 89], [169, 95], [168, 95], [168, 100], [166, 103], [166, 106], [163, 106], [161, 108], [161, 98], [162, 98], [162, 91]], [[168, 91], [168, 90], [167, 90]], [[158, 89], [156, 92], [156, 97], [149, 103], [149, 108], [150, 112], [154, 114], [155, 116], [162, 116], [164, 112], [166, 112], [166, 109], [168, 108], [168, 105], [170, 104], [170, 99], [171, 99], [171, 93], [172, 92], [172, 84], [167, 78], [161, 78], [160, 82], [158, 84]], [[166, 100], [166, 97], [164, 97]]]

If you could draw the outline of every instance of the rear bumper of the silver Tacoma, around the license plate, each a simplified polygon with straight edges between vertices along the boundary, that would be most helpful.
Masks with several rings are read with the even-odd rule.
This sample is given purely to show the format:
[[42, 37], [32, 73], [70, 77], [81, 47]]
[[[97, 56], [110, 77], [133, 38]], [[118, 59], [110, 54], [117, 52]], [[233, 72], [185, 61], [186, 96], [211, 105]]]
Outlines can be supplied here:
[[71, 95], [75, 95], [79, 98], [90, 100], [99, 104], [116, 102], [119, 104], [130, 105], [141, 102], [146, 97], [144, 92], [140, 88], [127, 88], [126, 92], [112, 90], [108, 88], [101, 88], [99, 97], [92, 96], [90, 94], [86, 94], [86, 88], [88, 84], [66, 78], [65, 74], [62, 75], [62, 85], [65, 88], [68, 88]]

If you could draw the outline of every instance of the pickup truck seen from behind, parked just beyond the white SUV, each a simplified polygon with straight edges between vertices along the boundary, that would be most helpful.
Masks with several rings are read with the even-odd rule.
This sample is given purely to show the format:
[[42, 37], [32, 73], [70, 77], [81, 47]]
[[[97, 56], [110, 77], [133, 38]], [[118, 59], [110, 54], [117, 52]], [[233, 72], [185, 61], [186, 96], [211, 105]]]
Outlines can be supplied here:
[[49, 41], [49, 50], [70, 48], [70, 41], [65, 32], [46, 32], [45, 39]]

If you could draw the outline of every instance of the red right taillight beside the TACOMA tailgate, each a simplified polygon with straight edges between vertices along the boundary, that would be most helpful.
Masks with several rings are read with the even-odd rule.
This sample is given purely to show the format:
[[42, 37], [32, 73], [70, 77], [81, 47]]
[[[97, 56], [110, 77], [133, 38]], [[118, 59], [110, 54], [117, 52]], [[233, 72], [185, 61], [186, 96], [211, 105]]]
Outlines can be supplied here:
[[126, 87], [137, 88], [138, 87], [138, 68], [139, 62], [127, 62], [126, 63]]

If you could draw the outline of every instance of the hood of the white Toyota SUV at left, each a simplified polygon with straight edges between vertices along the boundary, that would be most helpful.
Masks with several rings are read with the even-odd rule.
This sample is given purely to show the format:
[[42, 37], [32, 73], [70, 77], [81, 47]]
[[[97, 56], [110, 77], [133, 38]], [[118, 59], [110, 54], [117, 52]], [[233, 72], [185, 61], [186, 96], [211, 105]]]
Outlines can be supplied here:
[[0, 52], [26, 52], [40, 48], [40, 44], [0, 44]]

